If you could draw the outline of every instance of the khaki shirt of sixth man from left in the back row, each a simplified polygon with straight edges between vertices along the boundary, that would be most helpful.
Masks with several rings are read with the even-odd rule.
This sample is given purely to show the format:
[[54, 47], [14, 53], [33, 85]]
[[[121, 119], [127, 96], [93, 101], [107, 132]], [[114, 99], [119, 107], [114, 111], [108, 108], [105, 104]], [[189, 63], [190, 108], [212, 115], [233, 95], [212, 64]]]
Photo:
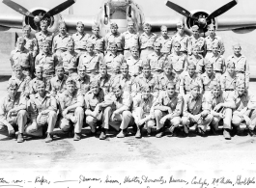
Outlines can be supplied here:
[[112, 34], [111, 32], [105, 35], [105, 49], [108, 50], [109, 44], [110, 43], [117, 43], [117, 50], [124, 50], [124, 46], [125, 46], [125, 39], [124, 37], [121, 35], [121, 33], [117, 33], [117, 34]]

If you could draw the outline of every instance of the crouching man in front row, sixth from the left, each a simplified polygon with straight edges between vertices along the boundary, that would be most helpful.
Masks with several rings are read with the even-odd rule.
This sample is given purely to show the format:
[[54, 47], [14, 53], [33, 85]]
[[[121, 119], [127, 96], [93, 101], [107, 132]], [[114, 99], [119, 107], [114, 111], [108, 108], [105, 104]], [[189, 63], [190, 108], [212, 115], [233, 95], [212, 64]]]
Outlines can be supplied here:
[[148, 133], [151, 132], [151, 128], [156, 125], [154, 118], [154, 95], [151, 93], [149, 85], [143, 86], [141, 94], [137, 94], [133, 98], [132, 116], [137, 125], [137, 132], [135, 138], [141, 138], [141, 131], [145, 124]]

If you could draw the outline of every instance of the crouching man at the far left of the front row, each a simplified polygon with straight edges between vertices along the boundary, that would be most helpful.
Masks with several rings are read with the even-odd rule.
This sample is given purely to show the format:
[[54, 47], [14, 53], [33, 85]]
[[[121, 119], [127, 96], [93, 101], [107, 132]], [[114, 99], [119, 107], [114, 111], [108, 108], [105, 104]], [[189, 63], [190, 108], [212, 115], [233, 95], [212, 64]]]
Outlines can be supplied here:
[[8, 83], [8, 95], [0, 103], [0, 133], [8, 131], [9, 136], [18, 130], [17, 142], [24, 142], [23, 133], [27, 123], [27, 101], [18, 90], [18, 84], [11, 80]]

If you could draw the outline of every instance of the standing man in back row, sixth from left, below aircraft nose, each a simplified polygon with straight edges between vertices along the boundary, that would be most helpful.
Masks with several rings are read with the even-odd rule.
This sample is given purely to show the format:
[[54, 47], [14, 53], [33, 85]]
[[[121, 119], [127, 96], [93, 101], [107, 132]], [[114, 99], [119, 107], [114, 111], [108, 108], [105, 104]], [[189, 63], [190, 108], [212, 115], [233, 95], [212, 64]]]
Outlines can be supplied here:
[[110, 43], [117, 44], [117, 54], [124, 54], [125, 39], [121, 33], [118, 32], [117, 23], [110, 24], [110, 33], [105, 35], [105, 50], [108, 52]]

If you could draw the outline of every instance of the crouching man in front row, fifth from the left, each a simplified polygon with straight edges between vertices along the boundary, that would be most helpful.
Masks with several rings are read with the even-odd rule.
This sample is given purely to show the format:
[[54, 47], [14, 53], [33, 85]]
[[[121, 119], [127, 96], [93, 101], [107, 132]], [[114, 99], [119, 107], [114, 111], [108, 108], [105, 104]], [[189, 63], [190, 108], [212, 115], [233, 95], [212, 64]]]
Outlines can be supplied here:
[[120, 130], [117, 138], [124, 138], [128, 134], [128, 125], [133, 125], [134, 119], [130, 112], [132, 98], [124, 92], [120, 85], [113, 87], [114, 94], [107, 94], [104, 102], [102, 126], [108, 129], [109, 125]]

